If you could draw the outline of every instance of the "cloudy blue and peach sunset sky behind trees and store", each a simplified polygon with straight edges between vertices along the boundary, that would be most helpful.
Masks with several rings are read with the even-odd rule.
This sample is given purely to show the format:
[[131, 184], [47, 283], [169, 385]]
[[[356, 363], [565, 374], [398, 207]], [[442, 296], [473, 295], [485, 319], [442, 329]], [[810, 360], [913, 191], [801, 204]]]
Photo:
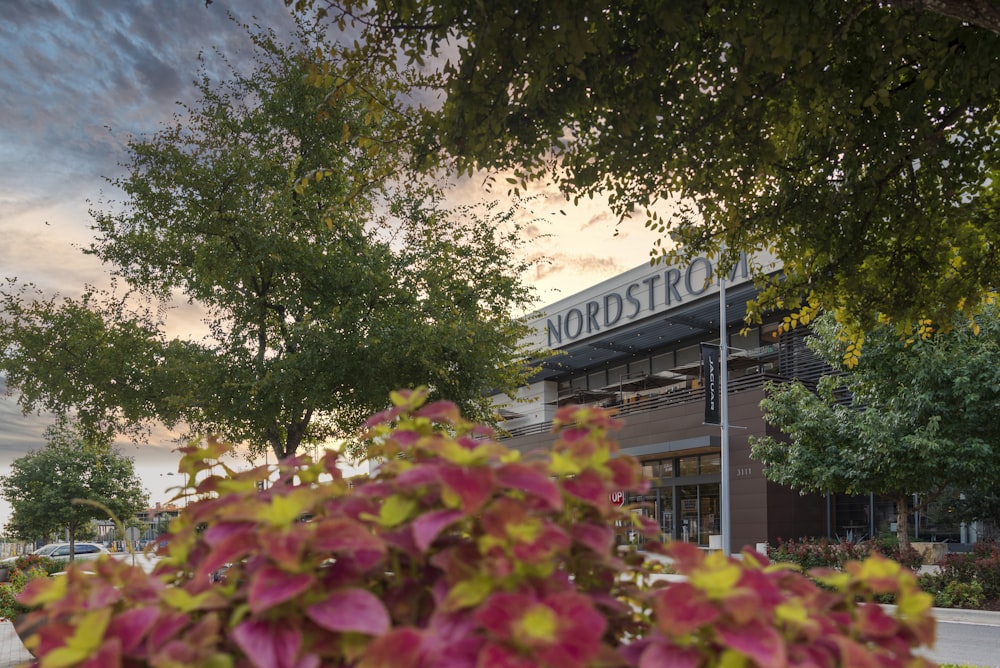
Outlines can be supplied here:
[[[258, 22], [279, 34], [292, 25], [282, 0], [0, 0], [0, 279], [49, 295], [106, 286], [106, 269], [81, 250], [92, 239], [88, 211], [121, 197], [107, 179], [121, 173], [128, 138], [155, 132], [177, 102], [194, 99], [199, 53], [210, 68], [213, 48], [245, 60], [250, 44], [240, 24]], [[449, 197], [496, 199], [480, 187], [481, 179], [467, 180]], [[531, 248], [542, 261], [525, 280], [540, 306], [648, 260], [654, 237], [641, 221], [616, 233], [600, 204], [574, 208], [558, 193], [538, 192]], [[183, 327], [194, 314], [181, 306], [169, 324]], [[0, 475], [44, 445], [50, 423], [23, 416], [15, 399], [0, 397]], [[152, 503], [167, 501], [176, 484], [171, 438], [120, 444]], [[0, 500], [0, 528], [8, 516]]]

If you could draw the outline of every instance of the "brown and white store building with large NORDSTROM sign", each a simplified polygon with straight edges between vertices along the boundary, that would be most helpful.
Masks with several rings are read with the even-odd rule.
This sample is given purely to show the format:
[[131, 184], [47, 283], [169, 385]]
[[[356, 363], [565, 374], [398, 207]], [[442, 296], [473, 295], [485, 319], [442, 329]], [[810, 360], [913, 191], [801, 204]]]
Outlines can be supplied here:
[[[718, 344], [724, 331], [730, 353], [725, 484], [732, 548], [843, 535], [846, 522], [838, 526], [836, 500], [771, 483], [761, 464], [750, 459], [750, 438], [768, 433], [759, 408], [765, 383], [792, 378], [810, 383], [825, 369], [805, 346], [806, 330], [780, 332], [784, 313], [747, 327], [747, 302], [757, 294], [755, 266], [780, 271], [772, 258], [742, 257], [725, 277], [724, 326], [718, 272], [704, 257], [683, 266], [636, 267], [539, 313], [531, 344], [557, 354], [517, 397], [497, 398], [505, 444], [521, 451], [548, 448], [560, 405], [615, 407], [625, 424], [616, 439], [651, 480], [647, 494], [625, 502], [652, 517], [664, 537], [717, 545], [726, 512], [722, 437], [719, 425], [705, 423], [700, 348]], [[867, 531], [855, 530], [862, 533]]]

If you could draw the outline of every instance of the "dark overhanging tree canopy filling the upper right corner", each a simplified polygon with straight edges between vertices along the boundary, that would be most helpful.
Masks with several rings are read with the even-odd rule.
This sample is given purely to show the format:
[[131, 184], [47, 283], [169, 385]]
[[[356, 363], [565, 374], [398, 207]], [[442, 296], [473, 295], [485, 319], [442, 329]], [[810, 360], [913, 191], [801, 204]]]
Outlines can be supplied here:
[[1000, 285], [993, 3], [285, 4], [353, 31], [337, 57], [426, 65], [429, 164], [607, 195], [683, 254], [770, 248], [762, 308], [861, 331]]

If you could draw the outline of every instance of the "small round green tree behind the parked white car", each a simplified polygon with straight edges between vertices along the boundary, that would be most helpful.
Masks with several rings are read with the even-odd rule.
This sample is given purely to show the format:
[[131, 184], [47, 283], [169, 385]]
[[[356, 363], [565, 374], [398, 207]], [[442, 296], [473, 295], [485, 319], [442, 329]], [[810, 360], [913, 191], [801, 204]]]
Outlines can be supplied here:
[[146, 509], [149, 498], [132, 459], [109, 442], [87, 440], [64, 419], [50, 426], [45, 438], [44, 448], [15, 459], [10, 473], [0, 477], [0, 496], [12, 510], [8, 534], [33, 541], [65, 531], [72, 553], [91, 520], [108, 519], [110, 511], [124, 522]]

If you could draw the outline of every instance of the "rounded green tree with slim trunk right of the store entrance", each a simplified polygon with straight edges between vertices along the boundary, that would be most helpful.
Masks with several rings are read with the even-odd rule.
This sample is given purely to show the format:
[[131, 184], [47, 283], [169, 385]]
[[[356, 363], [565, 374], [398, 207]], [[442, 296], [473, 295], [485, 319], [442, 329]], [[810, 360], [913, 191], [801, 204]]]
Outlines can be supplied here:
[[834, 370], [815, 393], [798, 381], [768, 387], [765, 420], [787, 440], [757, 439], [751, 456], [768, 479], [803, 492], [893, 499], [905, 548], [914, 493], [924, 502], [949, 488], [988, 493], [1000, 476], [1000, 308], [905, 341], [881, 325], [850, 370], [840, 333], [829, 315], [815, 323], [809, 347]]

